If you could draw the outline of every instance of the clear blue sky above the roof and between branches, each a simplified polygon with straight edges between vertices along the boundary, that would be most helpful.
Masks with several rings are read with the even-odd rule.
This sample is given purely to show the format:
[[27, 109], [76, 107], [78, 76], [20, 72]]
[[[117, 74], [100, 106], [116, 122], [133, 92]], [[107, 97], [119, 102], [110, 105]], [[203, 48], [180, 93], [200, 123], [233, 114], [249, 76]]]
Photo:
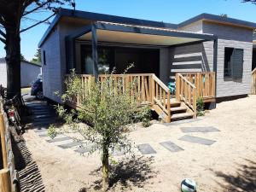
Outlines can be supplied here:
[[[227, 14], [236, 19], [256, 22], [256, 5], [241, 3], [241, 0], [76, 0], [76, 3], [79, 10], [175, 24], [201, 13]], [[37, 14], [32, 18], [40, 20], [45, 16]], [[29, 25], [28, 20], [22, 23], [22, 27]], [[27, 60], [32, 59], [47, 27], [42, 24], [21, 34], [21, 53]], [[3, 56], [5, 51], [0, 42], [0, 57]]]

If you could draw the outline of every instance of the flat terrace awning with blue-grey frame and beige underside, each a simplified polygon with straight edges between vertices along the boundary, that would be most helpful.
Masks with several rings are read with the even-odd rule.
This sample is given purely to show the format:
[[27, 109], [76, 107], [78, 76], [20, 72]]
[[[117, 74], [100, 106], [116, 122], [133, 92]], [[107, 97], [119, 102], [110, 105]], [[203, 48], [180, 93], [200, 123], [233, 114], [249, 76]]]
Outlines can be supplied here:
[[[96, 22], [93, 25], [97, 29], [97, 41], [107, 43], [171, 46], [216, 38], [214, 35], [207, 33], [183, 32], [167, 28], [134, 26], [102, 21]], [[90, 26], [84, 27], [84, 29], [73, 34], [72, 38], [90, 41], [92, 38]]]

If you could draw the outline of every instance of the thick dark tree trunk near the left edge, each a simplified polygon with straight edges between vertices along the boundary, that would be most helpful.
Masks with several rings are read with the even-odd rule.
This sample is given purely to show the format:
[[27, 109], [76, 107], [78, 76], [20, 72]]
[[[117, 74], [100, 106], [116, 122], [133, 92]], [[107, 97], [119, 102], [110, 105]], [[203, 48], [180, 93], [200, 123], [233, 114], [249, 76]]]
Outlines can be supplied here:
[[20, 95], [20, 26], [6, 31], [7, 96]]

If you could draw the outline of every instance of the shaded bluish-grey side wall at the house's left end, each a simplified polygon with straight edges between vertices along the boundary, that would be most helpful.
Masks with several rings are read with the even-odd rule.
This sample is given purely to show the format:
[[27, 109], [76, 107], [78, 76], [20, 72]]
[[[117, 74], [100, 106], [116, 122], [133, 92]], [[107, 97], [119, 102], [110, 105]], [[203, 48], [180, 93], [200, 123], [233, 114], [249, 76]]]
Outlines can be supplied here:
[[42, 55], [44, 50], [46, 53], [46, 65], [43, 65], [44, 96], [55, 102], [61, 102], [61, 98], [55, 95], [55, 91], [61, 94], [64, 91], [64, 79], [67, 73], [66, 55], [70, 54], [66, 51], [65, 38], [81, 26], [84, 26], [84, 21], [59, 22], [41, 47]]

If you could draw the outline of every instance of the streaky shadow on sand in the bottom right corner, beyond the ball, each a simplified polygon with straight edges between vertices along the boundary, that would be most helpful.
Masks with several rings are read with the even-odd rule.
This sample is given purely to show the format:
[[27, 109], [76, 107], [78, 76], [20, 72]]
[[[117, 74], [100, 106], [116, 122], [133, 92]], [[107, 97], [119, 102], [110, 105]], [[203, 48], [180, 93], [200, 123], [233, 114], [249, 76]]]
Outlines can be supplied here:
[[256, 192], [256, 162], [246, 160], [246, 165], [239, 165], [236, 175], [215, 172], [217, 177], [222, 177], [226, 184], [218, 183], [225, 191], [249, 191]]

